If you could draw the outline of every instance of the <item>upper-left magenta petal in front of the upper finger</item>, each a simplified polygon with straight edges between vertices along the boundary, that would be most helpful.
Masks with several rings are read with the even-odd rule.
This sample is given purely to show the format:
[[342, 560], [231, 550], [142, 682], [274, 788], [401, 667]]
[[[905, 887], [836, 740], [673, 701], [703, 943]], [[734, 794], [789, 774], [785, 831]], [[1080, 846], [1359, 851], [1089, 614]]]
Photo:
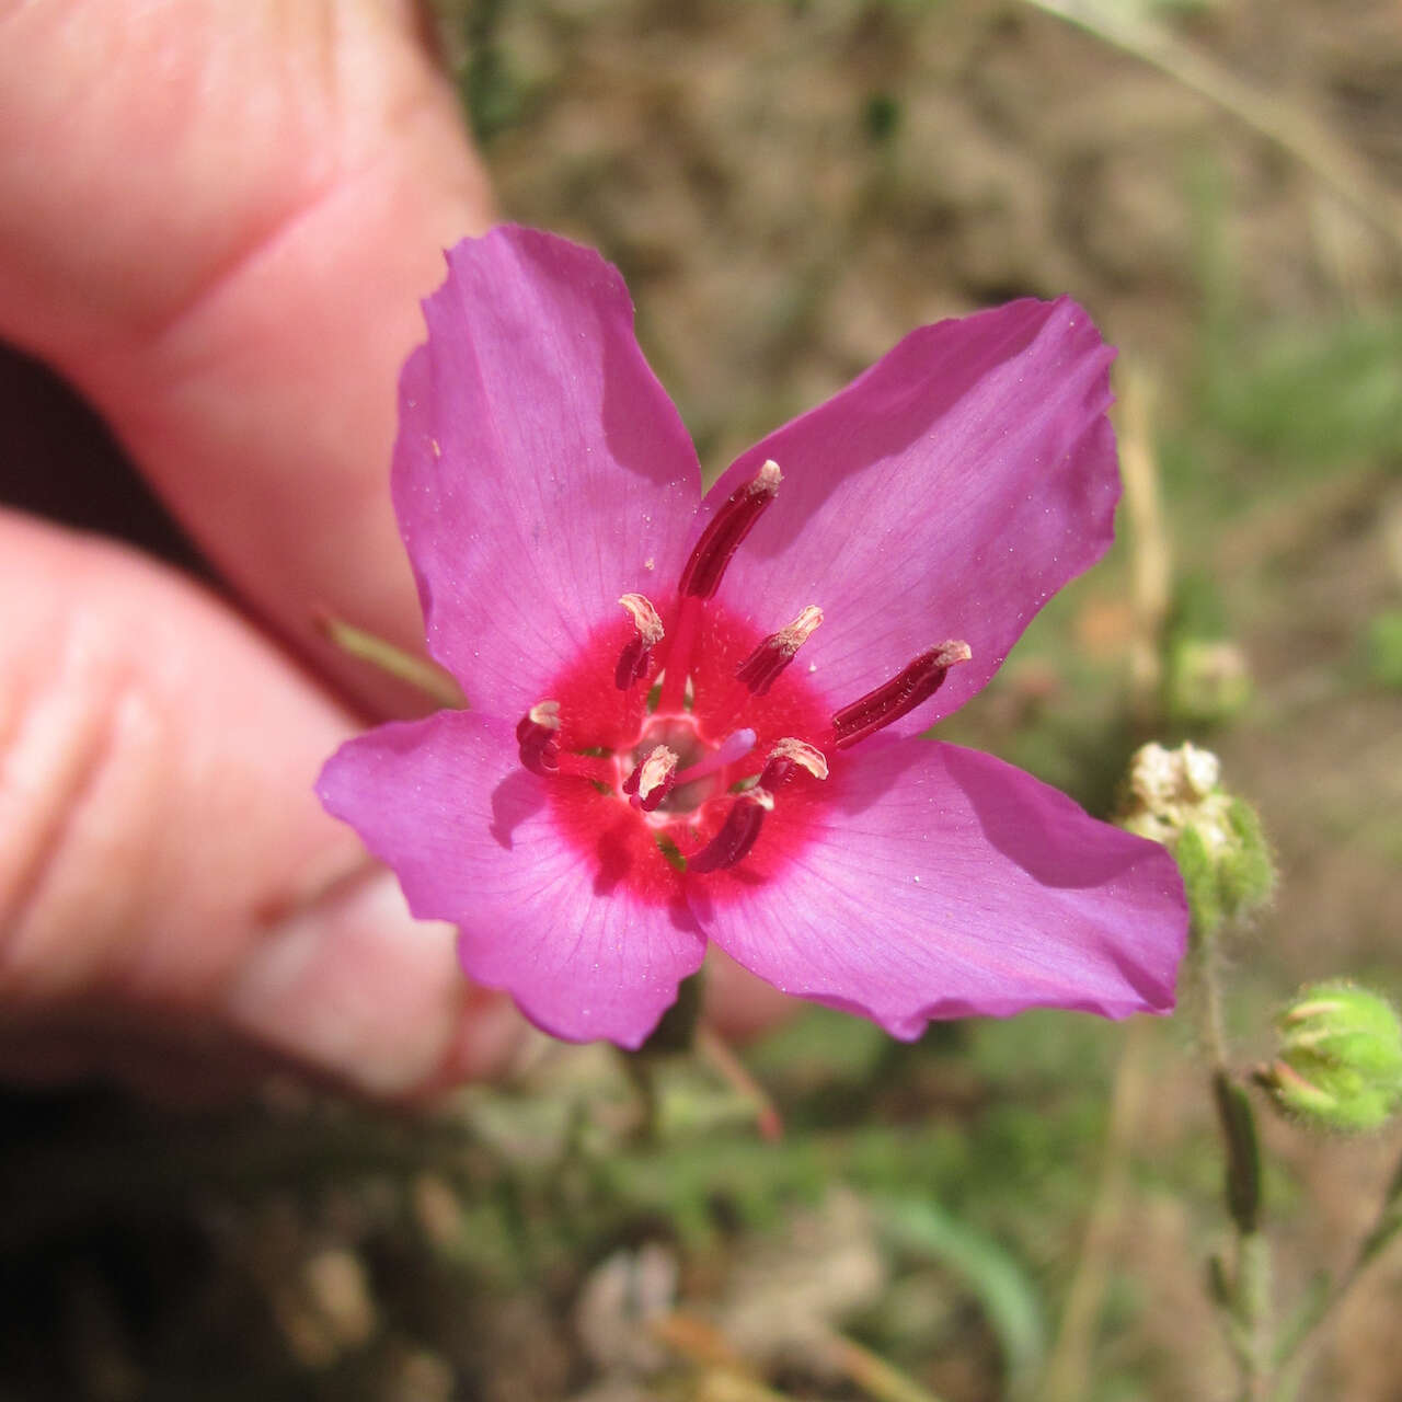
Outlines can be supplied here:
[[620, 594], [672, 592], [701, 478], [596, 252], [506, 227], [447, 265], [400, 381], [394, 505], [429, 651], [515, 718]]

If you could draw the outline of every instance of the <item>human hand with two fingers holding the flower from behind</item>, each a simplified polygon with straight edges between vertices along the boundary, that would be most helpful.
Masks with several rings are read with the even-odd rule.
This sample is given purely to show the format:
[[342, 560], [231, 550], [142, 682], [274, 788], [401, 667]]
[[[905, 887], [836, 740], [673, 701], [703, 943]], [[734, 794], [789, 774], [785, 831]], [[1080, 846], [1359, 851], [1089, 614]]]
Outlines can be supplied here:
[[415, 7], [0, 3], [0, 336], [259, 620], [0, 510], [0, 1074], [489, 1074], [515, 1012], [311, 792], [356, 729], [324, 681], [393, 704], [315, 610], [421, 637], [395, 377], [440, 250], [491, 222]]

